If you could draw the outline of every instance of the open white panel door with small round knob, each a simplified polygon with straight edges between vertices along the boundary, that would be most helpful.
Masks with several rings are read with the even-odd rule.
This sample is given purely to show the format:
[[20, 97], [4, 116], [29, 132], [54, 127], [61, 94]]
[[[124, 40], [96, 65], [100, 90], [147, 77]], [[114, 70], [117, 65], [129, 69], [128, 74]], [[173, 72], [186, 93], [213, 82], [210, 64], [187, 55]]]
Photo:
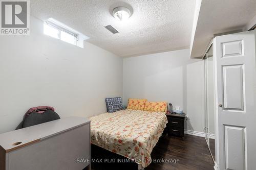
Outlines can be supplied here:
[[255, 31], [214, 39], [216, 168], [256, 169]]

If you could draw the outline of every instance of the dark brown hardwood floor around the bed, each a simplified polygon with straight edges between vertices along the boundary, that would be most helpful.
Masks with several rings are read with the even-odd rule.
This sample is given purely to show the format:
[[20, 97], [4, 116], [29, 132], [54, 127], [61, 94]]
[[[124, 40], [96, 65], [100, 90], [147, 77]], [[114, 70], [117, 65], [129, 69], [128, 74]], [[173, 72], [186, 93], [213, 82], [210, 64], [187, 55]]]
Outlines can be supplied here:
[[[117, 159], [124, 157], [96, 147], [92, 144], [92, 159], [101, 158], [102, 163], [92, 163], [92, 170], [105, 169], [129, 169], [137, 170], [137, 163], [107, 163], [104, 159]], [[152, 162], [145, 170], [212, 170], [214, 162], [211, 159], [206, 141], [203, 137], [185, 135], [185, 139], [180, 137], [162, 135], [154, 148], [153, 159], [178, 160], [179, 163], [154, 163]]]

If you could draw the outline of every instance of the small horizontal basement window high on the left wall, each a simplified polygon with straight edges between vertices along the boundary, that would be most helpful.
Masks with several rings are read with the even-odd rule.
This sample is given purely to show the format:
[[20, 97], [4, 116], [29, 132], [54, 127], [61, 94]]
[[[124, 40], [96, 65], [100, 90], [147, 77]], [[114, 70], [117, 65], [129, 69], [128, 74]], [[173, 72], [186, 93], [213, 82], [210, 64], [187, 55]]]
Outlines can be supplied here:
[[63, 23], [50, 18], [44, 24], [44, 34], [83, 48], [83, 41], [89, 37]]

